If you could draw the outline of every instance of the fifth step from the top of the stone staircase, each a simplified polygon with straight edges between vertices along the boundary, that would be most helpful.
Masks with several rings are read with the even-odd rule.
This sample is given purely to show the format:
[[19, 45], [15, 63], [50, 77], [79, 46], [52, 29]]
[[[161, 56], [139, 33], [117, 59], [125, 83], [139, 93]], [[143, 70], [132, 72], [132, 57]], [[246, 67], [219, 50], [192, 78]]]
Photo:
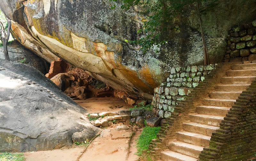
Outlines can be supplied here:
[[209, 97], [210, 98], [218, 98], [218, 99], [238, 99], [238, 96], [240, 96], [240, 94], [243, 91], [216, 91], [216, 92], [210, 92], [209, 93]]

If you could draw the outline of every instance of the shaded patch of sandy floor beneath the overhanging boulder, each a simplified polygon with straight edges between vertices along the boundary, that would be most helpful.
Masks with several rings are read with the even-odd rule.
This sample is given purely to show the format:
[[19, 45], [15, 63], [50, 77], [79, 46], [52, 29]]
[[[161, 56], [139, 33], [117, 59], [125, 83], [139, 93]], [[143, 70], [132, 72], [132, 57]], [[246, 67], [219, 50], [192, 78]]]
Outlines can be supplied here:
[[129, 104], [125, 104], [122, 98], [116, 97], [93, 97], [86, 100], [74, 100], [76, 103], [84, 107], [88, 113], [94, 112], [119, 112], [132, 108]]

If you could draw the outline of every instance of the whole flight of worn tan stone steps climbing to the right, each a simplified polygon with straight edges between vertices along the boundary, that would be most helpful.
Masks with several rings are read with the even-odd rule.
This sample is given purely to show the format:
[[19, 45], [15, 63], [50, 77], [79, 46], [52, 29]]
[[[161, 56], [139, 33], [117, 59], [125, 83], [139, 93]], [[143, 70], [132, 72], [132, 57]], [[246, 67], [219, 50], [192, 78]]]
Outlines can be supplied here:
[[190, 113], [189, 120], [183, 122], [182, 130], [176, 132], [168, 150], [161, 152], [161, 160], [196, 161], [203, 148], [209, 146], [212, 132], [219, 129], [238, 96], [255, 79], [256, 63], [231, 65], [209, 98], [204, 98], [203, 104], [196, 107], [196, 113]]

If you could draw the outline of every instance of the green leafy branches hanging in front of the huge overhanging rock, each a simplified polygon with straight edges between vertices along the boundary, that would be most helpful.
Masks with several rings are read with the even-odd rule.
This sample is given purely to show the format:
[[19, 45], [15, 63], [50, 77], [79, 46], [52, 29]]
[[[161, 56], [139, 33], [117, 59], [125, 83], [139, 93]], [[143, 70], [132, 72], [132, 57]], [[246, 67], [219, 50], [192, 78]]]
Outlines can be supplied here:
[[[201, 12], [208, 11], [218, 5], [218, 0], [109, 0], [111, 2], [122, 2], [121, 9], [128, 10], [133, 6], [139, 6], [143, 9], [141, 14], [146, 17], [143, 21], [143, 27], [138, 34], [145, 36], [139, 40], [130, 41], [132, 44], [140, 45], [141, 50], [145, 53], [152, 49], [153, 46], [158, 48], [167, 43], [168, 37], [165, 36], [168, 30], [179, 32], [179, 27], [174, 26], [178, 16], [184, 15], [191, 8], [196, 9], [195, 2], [204, 3], [204, 9]], [[116, 8], [113, 4], [112, 9]], [[156, 50], [159, 52], [159, 50]]]

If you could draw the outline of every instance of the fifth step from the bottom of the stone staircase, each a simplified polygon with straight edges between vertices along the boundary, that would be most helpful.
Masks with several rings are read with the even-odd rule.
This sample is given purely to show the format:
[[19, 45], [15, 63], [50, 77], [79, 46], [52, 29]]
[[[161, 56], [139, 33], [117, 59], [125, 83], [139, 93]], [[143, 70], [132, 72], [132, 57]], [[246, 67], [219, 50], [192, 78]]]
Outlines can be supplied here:
[[196, 122], [199, 124], [205, 124], [205, 125], [211, 125], [211, 126], [217, 126], [217, 127], [220, 127], [220, 122], [223, 119], [224, 119], [224, 116], [213, 116], [213, 115], [204, 115], [204, 114], [190, 114], [189, 115], [189, 120], [191, 122]]

